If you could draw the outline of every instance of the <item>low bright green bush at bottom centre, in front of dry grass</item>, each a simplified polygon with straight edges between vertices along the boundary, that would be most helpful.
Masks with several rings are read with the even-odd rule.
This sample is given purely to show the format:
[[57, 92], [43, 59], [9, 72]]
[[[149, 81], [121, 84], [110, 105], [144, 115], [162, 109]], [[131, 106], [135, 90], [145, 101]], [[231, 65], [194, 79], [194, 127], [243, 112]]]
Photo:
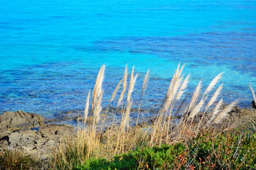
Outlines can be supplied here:
[[177, 156], [184, 152], [183, 144], [145, 147], [128, 154], [115, 156], [113, 161], [106, 159], [89, 159], [75, 170], [137, 170], [172, 169]]

